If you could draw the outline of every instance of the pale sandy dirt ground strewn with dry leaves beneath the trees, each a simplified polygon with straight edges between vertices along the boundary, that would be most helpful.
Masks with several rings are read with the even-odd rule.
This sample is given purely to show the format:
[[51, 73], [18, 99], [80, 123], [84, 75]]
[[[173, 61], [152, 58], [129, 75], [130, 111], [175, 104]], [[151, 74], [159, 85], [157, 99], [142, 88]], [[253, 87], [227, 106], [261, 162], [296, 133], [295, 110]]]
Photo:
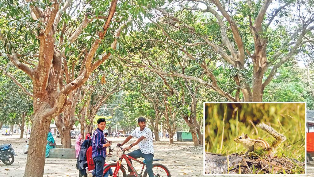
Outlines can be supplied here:
[[[108, 138], [114, 144], [121, 143], [125, 138]], [[61, 144], [61, 139], [55, 139], [57, 145]], [[135, 139], [132, 139], [133, 141]], [[74, 139], [72, 143], [74, 144]], [[12, 143], [15, 152], [14, 163], [12, 165], [5, 165], [0, 162], [0, 176], [5, 177], [23, 177], [27, 154], [23, 153], [24, 139], [19, 139], [19, 135], [3, 136], [0, 135], [0, 145]], [[154, 141], [154, 158], [164, 159], [162, 164], [167, 166], [171, 172], [172, 177], [198, 177], [203, 176], [203, 148], [193, 147], [192, 142], [176, 142], [169, 145], [167, 139], [161, 142]], [[138, 149], [138, 146], [131, 150]], [[121, 153], [120, 153], [121, 154]], [[113, 156], [107, 158], [106, 161], [116, 160], [117, 149], [114, 149]], [[111, 162], [107, 162], [111, 163]], [[57, 159], [47, 158], [45, 163], [44, 177], [77, 177], [78, 170], [75, 168], [76, 159]], [[134, 165], [136, 163], [133, 163]], [[138, 170], [141, 166], [137, 165]], [[307, 175], [314, 177], [314, 164], [307, 165]]]

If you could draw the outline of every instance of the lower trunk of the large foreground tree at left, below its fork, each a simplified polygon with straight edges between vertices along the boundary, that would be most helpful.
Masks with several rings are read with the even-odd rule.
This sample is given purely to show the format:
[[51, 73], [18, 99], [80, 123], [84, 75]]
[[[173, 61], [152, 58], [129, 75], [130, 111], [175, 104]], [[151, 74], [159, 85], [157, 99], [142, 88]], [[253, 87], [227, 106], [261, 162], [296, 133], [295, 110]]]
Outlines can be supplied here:
[[34, 113], [24, 177], [44, 175], [47, 135], [51, 119], [42, 115], [44, 115], [43, 109], [36, 110]]

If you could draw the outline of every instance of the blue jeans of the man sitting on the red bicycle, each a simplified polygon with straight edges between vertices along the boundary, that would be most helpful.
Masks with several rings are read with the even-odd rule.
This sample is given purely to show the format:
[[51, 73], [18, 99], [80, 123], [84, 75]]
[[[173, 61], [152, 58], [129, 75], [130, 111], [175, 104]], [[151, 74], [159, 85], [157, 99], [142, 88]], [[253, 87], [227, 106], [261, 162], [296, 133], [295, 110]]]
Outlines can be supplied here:
[[[144, 158], [148, 176], [149, 177], [154, 177], [154, 173], [153, 173], [153, 158], [154, 158], [154, 154], [143, 154], [142, 151], [140, 149], [138, 149], [138, 150], [135, 150], [133, 152], [128, 153], [127, 155], [131, 156], [133, 158], [139, 158], [139, 157]], [[129, 159], [129, 160], [132, 163], [131, 159]], [[132, 169], [129, 166], [127, 166], [127, 169], [128, 169], [129, 172], [132, 172]]]

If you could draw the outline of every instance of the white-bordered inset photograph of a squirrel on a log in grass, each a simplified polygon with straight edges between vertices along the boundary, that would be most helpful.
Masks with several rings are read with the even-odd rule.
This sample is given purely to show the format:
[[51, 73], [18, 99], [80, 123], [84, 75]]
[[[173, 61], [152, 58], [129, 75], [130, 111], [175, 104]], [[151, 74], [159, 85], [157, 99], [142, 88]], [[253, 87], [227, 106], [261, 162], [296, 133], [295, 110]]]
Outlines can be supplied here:
[[305, 102], [204, 103], [204, 174], [306, 174]]

